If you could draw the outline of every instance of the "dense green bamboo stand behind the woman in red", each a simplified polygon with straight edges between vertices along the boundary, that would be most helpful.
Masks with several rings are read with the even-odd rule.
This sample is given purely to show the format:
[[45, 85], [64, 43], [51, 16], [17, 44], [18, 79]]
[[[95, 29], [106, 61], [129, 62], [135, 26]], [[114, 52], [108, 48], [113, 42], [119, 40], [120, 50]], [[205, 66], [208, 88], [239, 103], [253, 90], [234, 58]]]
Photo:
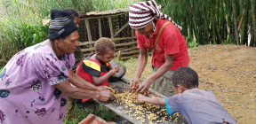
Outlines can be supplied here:
[[[188, 43], [236, 43], [255, 46], [255, 0], [156, 0], [172, 17]], [[254, 17], [254, 18], [253, 18]], [[249, 44], [248, 35], [252, 35]]]

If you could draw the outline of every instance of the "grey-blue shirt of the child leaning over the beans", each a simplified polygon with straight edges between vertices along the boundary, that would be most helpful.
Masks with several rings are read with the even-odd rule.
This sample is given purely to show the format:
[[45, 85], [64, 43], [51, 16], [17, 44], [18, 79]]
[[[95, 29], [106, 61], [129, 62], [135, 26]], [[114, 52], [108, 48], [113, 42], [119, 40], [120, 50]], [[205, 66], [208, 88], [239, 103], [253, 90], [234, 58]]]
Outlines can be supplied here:
[[173, 112], [180, 112], [188, 124], [222, 124], [223, 120], [236, 124], [210, 90], [188, 89], [167, 98]]

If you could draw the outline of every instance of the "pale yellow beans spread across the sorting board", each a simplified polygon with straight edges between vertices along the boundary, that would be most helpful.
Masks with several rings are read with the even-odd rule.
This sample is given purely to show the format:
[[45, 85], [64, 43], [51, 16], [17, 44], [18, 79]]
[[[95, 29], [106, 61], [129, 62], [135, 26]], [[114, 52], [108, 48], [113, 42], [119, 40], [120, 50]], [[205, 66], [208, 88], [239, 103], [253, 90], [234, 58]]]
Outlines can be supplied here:
[[[156, 123], [168, 123], [168, 121], [178, 122], [180, 112], [174, 113], [172, 116], [168, 115], [166, 109], [160, 108], [160, 105], [151, 105], [148, 103], [140, 104], [137, 100], [137, 97], [140, 93], [135, 93], [135, 90], [130, 89], [124, 91], [122, 89], [121, 93], [116, 91], [115, 100], [113, 104], [121, 105], [117, 108], [124, 107], [126, 111], [123, 111], [125, 114], [131, 116], [131, 119], [140, 120], [145, 123], [146, 120], [149, 124]], [[144, 96], [147, 97], [157, 97], [157, 95], [146, 91]], [[123, 109], [124, 110], [124, 109]], [[182, 117], [181, 117], [182, 118]]]

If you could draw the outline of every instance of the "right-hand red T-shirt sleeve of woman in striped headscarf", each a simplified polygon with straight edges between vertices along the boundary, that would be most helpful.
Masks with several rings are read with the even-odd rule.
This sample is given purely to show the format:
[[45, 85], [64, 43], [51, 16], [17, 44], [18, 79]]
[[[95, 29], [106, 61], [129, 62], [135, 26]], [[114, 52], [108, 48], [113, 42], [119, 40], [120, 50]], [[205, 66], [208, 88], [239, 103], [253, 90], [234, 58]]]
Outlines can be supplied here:
[[167, 35], [164, 38], [164, 54], [176, 54], [180, 52], [180, 43], [176, 33]]

